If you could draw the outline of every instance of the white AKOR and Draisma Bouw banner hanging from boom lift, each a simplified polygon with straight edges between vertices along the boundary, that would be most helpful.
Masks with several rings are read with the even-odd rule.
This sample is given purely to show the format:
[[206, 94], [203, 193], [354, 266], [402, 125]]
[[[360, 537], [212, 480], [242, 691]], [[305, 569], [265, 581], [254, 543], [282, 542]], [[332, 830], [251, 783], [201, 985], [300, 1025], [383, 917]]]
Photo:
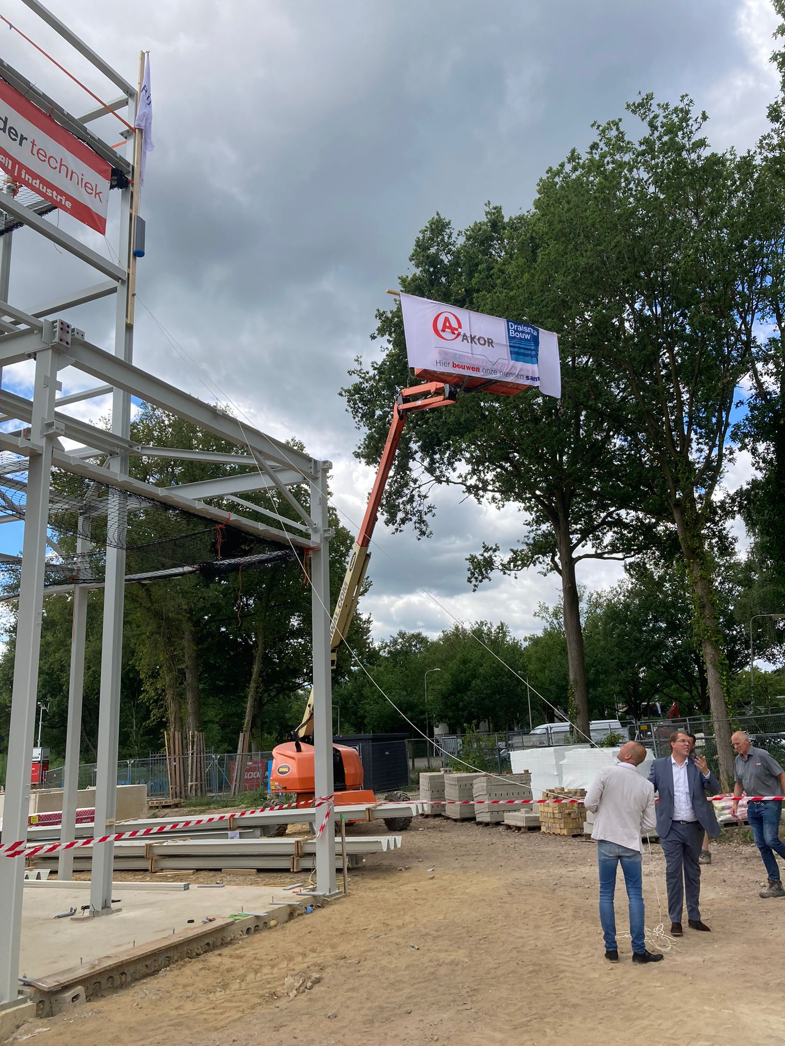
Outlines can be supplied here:
[[401, 294], [409, 366], [438, 371], [452, 384], [478, 381], [533, 385], [561, 395], [559, 339], [552, 331]]

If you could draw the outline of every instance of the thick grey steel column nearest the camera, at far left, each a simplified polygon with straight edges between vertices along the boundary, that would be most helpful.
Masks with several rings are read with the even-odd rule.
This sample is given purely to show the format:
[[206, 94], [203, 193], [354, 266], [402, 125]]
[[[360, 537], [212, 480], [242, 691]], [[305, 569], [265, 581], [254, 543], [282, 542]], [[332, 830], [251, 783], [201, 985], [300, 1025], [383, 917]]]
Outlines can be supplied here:
[[[22, 543], [22, 575], [17, 610], [17, 649], [14, 658], [8, 763], [5, 770], [3, 842], [27, 838], [30, 763], [38, 700], [38, 667], [41, 651], [41, 619], [44, 600], [46, 525], [51, 480], [51, 434], [44, 424], [54, 412], [58, 386], [57, 354], [45, 348], [36, 357], [30, 438], [42, 453], [29, 459], [27, 501]], [[22, 932], [24, 861], [0, 857], [0, 1003], [17, 998], [19, 988], [19, 938]]]

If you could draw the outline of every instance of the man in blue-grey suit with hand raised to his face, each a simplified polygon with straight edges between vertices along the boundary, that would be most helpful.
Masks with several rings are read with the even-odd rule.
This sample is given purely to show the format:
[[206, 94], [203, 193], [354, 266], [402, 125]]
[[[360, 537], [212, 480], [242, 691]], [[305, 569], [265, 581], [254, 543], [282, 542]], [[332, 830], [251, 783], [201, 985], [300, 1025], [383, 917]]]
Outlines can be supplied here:
[[709, 931], [700, 918], [700, 846], [703, 832], [716, 839], [717, 818], [706, 795], [718, 795], [720, 784], [709, 770], [705, 758], [688, 759], [690, 738], [676, 731], [670, 736], [671, 754], [654, 759], [649, 780], [659, 796], [657, 834], [665, 854], [668, 914], [671, 934], [680, 937], [681, 911], [687, 893], [688, 926]]

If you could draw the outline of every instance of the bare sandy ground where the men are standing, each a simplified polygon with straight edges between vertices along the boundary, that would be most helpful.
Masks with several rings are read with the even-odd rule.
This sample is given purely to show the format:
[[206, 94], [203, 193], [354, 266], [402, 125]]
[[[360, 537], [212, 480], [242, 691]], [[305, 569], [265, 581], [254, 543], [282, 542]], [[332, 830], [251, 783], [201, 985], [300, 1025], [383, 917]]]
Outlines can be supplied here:
[[[785, 1040], [785, 902], [758, 897], [754, 846], [714, 847], [701, 897], [713, 932], [687, 930], [678, 951], [644, 967], [630, 961], [628, 939], [621, 962], [603, 956], [596, 859], [586, 839], [419, 818], [402, 850], [352, 876], [347, 900], [19, 1034], [38, 1031], [36, 1046]], [[664, 877], [654, 846], [650, 926]], [[616, 902], [621, 931], [621, 885]], [[320, 980], [289, 998], [285, 978], [299, 972]]]

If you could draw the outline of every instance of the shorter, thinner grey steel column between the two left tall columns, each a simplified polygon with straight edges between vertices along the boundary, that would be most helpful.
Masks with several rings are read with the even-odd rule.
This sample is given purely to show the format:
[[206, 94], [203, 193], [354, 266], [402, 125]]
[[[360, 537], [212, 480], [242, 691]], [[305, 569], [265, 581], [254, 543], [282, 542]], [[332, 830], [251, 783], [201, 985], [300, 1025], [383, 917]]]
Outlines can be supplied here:
[[[77, 564], [83, 562], [92, 547], [89, 533], [90, 520], [80, 516], [80, 536], [76, 539]], [[68, 729], [63, 779], [63, 820], [60, 841], [69, 843], [76, 838], [76, 792], [80, 777], [80, 743], [82, 741], [82, 697], [85, 682], [85, 639], [87, 637], [88, 591], [76, 585], [73, 592], [73, 630], [71, 636], [71, 674], [68, 681]], [[58, 879], [73, 879], [73, 850], [61, 850], [58, 858]]]

